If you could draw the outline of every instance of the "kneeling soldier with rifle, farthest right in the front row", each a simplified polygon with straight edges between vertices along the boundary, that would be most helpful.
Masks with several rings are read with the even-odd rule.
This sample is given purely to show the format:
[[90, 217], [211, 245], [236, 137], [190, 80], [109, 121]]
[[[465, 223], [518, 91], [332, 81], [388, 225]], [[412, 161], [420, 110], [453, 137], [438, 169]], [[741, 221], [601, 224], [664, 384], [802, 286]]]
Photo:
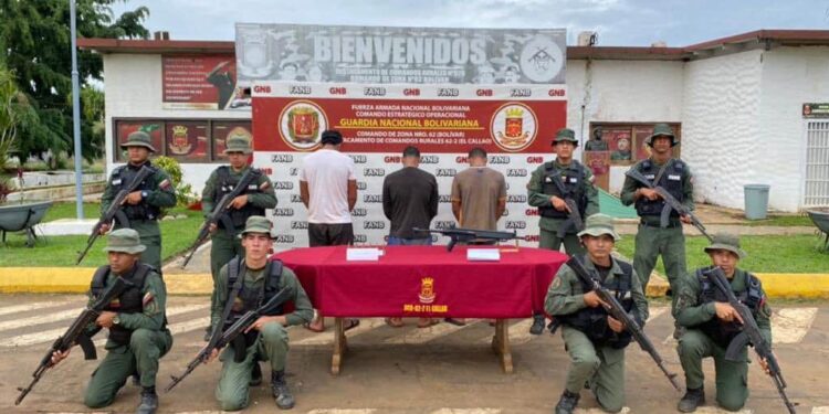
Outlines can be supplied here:
[[[766, 293], [756, 276], [737, 268], [739, 259], [746, 256], [739, 248], [739, 238], [731, 234], [716, 234], [713, 238], [711, 245], [705, 247], [711, 264], [723, 269], [734, 296], [752, 310], [762, 336], [772, 343], [772, 309], [766, 304]], [[693, 275], [683, 278], [673, 310], [676, 322], [688, 328], [676, 348], [688, 386], [678, 406], [683, 413], [692, 413], [705, 403], [702, 359], [706, 357], [714, 359], [716, 402], [720, 406], [737, 411], [748, 399], [747, 347], [741, 351], [738, 362], [725, 359], [725, 350], [739, 333], [743, 321], [725, 295], [703, 274], [707, 269], [710, 267], [696, 269]], [[759, 360], [759, 363], [767, 370], [764, 360]]]

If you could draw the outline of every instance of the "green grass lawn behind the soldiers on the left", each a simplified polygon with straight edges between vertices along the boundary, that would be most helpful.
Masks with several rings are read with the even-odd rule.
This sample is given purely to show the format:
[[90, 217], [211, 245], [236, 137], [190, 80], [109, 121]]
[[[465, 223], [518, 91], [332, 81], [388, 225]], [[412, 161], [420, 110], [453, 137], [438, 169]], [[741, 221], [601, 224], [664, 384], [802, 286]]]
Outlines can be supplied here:
[[[187, 219], [162, 221], [161, 257], [166, 261], [183, 252], [193, 242], [203, 217], [199, 212], [186, 209], [172, 209], [171, 214], [187, 214]], [[75, 216], [74, 203], [55, 203], [50, 209], [46, 220]], [[98, 204], [84, 204], [85, 217], [98, 216]], [[8, 245], [0, 245], [0, 267], [62, 267], [74, 266], [80, 251], [86, 247], [85, 235], [41, 237], [33, 248], [25, 247], [25, 236], [12, 233], [7, 237]], [[95, 267], [106, 262], [104, 248], [106, 237], [98, 237], [81, 266]]]

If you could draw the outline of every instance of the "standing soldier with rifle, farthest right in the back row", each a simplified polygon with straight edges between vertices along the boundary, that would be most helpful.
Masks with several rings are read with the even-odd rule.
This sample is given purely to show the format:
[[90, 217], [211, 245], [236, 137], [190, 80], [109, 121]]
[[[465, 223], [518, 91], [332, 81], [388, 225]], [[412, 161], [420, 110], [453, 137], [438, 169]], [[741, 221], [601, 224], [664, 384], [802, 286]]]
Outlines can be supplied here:
[[[654, 187], [664, 188], [689, 210], [693, 210], [694, 189], [691, 169], [682, 160], [672, 158], [671, 151], [679, 142], [671, 127], [667, 124], [657, 124], [653, 135], [648, 137], [646, 144], [651, 147], [651, 157], [631, 168], [641, 172]], [[685, 272], [685, 236], [682, 234], [682, 223], [691, 223], [691, 219], [672, 211], [668, 226], [661, 227], [660, 214], [665, 205], [664, 200], [655, 190], [629, 177], [625, 178], [621, 202], [625, 205], [634, 204], [640, 216], [633, 267], [641, 279], [642, 289], [648, 286], [657, 257], [662, 255], [668, 283], [671, 290], [675, 291], [674, 284]]]

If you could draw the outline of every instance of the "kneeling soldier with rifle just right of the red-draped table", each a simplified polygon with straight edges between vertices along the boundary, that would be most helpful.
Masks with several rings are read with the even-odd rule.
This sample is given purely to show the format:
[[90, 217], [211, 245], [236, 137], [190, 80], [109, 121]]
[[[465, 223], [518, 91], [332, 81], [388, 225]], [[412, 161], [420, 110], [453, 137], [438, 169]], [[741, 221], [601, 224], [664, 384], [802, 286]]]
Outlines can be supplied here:
[[[643, 326], [648, 319], [648, 301], [633, 266], [610, 255], [619, 240], [612, 219], [605, 214], [589, 216], [578, 236], [587, 248], [583, 261], [585, 268], [597, 272], [601, 285], [615, 291], [625, 310]], [[592, 391], [605, 411], [621, 411], [625, 348], [631, 341], [625, 326], [607, 314], [591, 286], [581, 283], [567, 265], [562, 265], [553, 279], [544, 308], [562, 325], [565, 349], [573, 360], [556, 414], [573, 413], [583, 388]]]

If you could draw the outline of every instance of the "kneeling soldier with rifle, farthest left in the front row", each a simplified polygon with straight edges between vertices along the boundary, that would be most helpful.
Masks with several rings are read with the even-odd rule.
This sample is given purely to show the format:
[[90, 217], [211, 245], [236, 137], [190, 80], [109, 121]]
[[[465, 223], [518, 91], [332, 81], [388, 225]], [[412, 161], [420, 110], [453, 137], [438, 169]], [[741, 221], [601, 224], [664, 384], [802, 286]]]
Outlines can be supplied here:
[[[123, 277], [132, 286], [113, 300], [87, 330], [87, 336], [92, 337], [101, 328], [109, 329], [105, 347], [108, 352], [86, 388], [84, 404], [90, 408], [112, 404], [118, 390], [136, 372], [143, 388], [137, 413], [151, 414], [158, 408], [158, 360], [172, 347], [172, 336], [165, 316], [167, 289], [164, 280], [155, 268], [138, 263], [145, 250], [135, 230], [112, 232], [104, 247], [109, 265], [98, 267], [92, 278], [91, 302], [117, 277]], [[54, 352], [53, 363], [62, 361], [69, 353], [69, 350]]]

